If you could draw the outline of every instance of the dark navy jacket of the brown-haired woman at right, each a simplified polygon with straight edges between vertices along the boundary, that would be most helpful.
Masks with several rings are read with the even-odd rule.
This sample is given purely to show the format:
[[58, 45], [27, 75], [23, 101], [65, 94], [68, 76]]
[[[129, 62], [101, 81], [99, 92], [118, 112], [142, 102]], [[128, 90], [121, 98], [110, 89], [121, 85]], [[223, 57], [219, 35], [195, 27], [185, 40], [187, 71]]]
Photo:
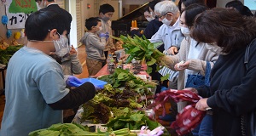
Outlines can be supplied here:
[[211, 71], [210, 88], [198, 88], [201, 96], [211, 95], [207, 105], [213, 110], [214, 136], [241, 136], [241, 115], [256, 108], [256, 42], [249, 49], [247, 69], [245, 50], [220, 55]]

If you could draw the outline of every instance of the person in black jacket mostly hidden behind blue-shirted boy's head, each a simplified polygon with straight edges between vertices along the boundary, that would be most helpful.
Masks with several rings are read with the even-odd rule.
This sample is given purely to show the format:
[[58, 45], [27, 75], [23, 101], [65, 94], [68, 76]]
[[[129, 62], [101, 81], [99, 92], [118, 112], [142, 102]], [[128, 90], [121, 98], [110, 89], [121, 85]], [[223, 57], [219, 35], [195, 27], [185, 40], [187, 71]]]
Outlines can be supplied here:
[[55, 3], [55, 0], [43, 0], [42, 3], [44, 3], [47, 6], [46, 8], [42, 8], [41, 9], [42, 11], [51, 9], [58, 14], [62, 14], [65, 17], [65, 20], [67, 20], [67, 23], [69, 23], [69, 25], [67, 26], [67, 36], [68, 36], [71, 28], [72, 15], [69, 12], [67, 12], [67, 10], [61, 8], [57, 3]]

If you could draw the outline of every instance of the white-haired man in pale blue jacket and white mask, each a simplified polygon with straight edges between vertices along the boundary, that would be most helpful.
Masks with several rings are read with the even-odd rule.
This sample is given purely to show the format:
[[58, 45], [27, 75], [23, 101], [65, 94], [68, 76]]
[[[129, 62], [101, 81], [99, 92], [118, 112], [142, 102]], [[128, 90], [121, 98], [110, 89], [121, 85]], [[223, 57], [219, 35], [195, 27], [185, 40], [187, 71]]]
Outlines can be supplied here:
[[[154, 6], [154, 13], [156, 17], [163, 22], [160, 29], [151, 37], [150, 42], [164, 42], [164, 53], [168, 55], [177, 54], [177, 49], [183, 40], [183, 34], [179, 26], [179, 10], [172, 1], [162, 1]], [[166, 76], [170, 74], [169, 88], [177, 88], [177, 71], [171, 71], [164, 67], [160, 74]]]

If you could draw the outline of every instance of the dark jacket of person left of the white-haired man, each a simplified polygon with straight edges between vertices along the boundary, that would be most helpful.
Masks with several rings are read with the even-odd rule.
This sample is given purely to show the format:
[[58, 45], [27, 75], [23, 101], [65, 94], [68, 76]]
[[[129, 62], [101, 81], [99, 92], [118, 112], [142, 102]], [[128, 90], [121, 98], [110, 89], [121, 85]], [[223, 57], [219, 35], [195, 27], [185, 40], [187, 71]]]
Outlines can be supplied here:
[[140, 31], [132, 30], [131, 36], [137, 35], [138, 37], [143, 37], [143, 35], [145, 35], [147, 39], [150, 39], [156, 33], [156, 31], [159, 30], [160, 26], [162, 25], [163, 23], [158, 19], [151, 20], [148, 23], [148, 26], [145, 28], [145, 31], [143, 32], [143, 34], [141, 34]]

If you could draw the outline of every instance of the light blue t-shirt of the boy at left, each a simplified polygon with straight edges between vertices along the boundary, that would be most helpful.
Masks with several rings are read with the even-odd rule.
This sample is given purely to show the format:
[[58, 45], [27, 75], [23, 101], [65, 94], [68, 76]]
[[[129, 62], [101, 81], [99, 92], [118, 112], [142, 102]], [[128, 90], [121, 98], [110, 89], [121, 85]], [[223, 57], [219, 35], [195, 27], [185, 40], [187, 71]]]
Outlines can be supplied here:
[[55, 59], [35, 48], [20, 48], [9, 60], [1, 136], [28, 133], [62, 122], [53, 104], [69, 93]]

